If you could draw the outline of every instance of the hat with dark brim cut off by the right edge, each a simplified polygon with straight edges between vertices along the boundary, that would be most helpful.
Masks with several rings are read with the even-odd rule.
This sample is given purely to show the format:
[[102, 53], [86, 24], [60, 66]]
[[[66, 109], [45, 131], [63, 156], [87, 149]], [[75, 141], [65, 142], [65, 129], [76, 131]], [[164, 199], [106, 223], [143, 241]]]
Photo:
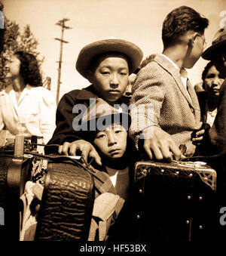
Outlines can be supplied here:
[[219, 29], [216, 32], [212, 45], [203, 52], [202, 57], [204, 60], [214, 60], [215, 55], [218, 54], [219, 48], [226, 47], [226, 27]]

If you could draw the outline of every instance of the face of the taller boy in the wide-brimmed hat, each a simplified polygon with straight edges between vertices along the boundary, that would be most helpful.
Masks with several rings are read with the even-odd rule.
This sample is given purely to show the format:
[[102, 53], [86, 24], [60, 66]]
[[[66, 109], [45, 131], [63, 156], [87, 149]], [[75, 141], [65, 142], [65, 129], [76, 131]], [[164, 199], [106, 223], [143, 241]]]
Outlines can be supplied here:
[[96, 70], [90, 72], [90, 82], [106, 101], [114, 103], [127, 88], [129, 67], [127, 60], [119, 56], [106, 56]]

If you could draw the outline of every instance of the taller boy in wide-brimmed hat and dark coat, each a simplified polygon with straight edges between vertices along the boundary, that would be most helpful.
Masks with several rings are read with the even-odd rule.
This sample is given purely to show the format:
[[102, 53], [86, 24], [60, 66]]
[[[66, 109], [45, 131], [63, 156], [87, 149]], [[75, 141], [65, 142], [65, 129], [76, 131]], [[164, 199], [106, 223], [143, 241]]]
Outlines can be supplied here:
[[92, 85], [63, 95], [56, 110], [56, 130], [47, 143], [60, 144], [60, 147], [47, 146], [45, 153], [58, 152], [75, 156], [77, 151], [81, 151], [85, 160], [90, 156], [102, 165], [99, 154], [86, 140], [84, 131], [75, 131], [73, 128], [73, 121], [79, 114], [73, 108], [78, 104], [87, 108], [90, 106], [90, 99], [97, 98], [102, 98], [110, 105], [121, 105], [128, 76], [139, 66], [142, 56], [138, 46], [121, 39], [93, 42], [82, 48], [76, 69]]

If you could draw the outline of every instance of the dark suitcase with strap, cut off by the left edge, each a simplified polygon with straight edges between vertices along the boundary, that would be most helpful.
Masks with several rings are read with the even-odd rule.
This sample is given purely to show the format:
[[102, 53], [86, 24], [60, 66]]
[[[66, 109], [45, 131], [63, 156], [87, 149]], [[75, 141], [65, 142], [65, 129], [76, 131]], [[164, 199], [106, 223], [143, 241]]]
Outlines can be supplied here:
[[2, 240], [18, 241], [20, 234], [20, 196], [29, 180], [32, 158], [15, 158], [0, 154], [0, 207], [3, 213], [0, 225]]

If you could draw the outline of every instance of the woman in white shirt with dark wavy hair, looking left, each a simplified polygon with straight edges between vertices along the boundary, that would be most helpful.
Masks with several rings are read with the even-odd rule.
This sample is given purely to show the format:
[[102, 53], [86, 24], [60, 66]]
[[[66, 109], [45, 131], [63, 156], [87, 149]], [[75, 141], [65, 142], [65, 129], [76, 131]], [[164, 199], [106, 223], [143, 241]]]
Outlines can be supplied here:
[[47, 143], [55, 129], [56, 100], [42, 87], [38, 61], [33, 54], [17, 51], [5, 68], [10, 83], [0, 92], [0, 131], [7, 131], [8, 143], [17, 134], [36, 135], [39, 143]]

